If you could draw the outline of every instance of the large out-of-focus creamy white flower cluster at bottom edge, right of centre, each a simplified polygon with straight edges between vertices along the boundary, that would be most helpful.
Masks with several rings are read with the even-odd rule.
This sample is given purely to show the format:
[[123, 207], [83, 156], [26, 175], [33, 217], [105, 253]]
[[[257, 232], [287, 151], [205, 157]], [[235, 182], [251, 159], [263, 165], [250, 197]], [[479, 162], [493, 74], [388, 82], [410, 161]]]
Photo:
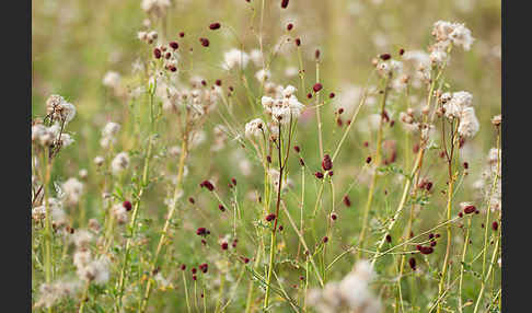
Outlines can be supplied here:
[[309, 303], [322, 313], [382, 312], [381, 302], [369, 288], [373, 276], [371, 264], [360, 260], [342, 281], [327, 282], [323, 289], [311, 289]]

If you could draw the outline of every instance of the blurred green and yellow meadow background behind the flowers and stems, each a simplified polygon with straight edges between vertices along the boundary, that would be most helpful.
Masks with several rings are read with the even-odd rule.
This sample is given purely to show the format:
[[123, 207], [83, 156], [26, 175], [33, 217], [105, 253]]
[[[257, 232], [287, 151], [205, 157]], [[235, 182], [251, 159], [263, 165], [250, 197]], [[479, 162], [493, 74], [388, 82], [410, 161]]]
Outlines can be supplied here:
[[[455, 217], [461, 210], [460, 202], [474, 202], [481, 215], [470, 218], [469, 225], [465, 218], [453, 223], [452, 265], [449, 268], [451, 277], [448, 281], [451, 287], [440, 302], [435, 301], [441, 295], [438, 290], [438, 271], [446, 255], [446, 227], [433, 231], [441, 233], [435, 253], [417, 253], [413, 256], [417, 259], [416, 269], [401, 264], [401, 254], [381, 257], [374, 267], [377, 278], [371, 282], [371, 289], [382, 303], [381, 312], [500, 312], [497, 311], [497, 305], [491, 305], [500, 303], [500, 267], [495, 266], [493, 276], [488, 279], [489, 283], [486, 282], [485, 287], [481, 282], [486, 271], [482, 264], [484, 255], [478, 257], [483, 251], [488, 251], [489, 254], [485, 253], [487, 263], [491, 258], [489, 248], [493, 244], [486, 250], [485, 230], [489, 228], [489, 241], [498, 240], [491, 236], [491, 222], [497, 215], [491, 213], [486, 219], [485, 198], [478, 197], [475, 189], [475, 182], [482, 178], [488, 152], [497, 144], [497, 131], [490, 120], [501, 111], [500, 1], [292, 0], [287, 9], [281, 9], [281, 1], [266, 0], [263, 11], [263, 1], [259, 0], [171, 0], [165, 14], [159, 18], [142, 10], [141, 2], [32, 1], [32, 118], [43, 118], [46, 115], [46, 101], [51, 94], [63, 96], [77, 109], [76, 117], [68, 124], [68, 131], [74, 142], [62, 148], [55, 158], [50, 178], [50, 182], [60, 185], [70, 177], [77, 177], [83, 185], [79, 201], [74, 206], [65, 206], [69, 227], [77, 231], [86, 229], [89, 221], [94, 219], [105, 228], [108, 217], [105, 195], [108, 197], [108, 194], [116, 198], [112, 201], [130, 200], [136, 205], [136, 182], [140, 179], [143, 161], [147, 160], [147, 138], [157, 134], [153, 146], [150, 141], [153, 151], [149, 184], [139, 200], [138, 224], [135, 225], [134, 237], [136, 243], [130, 252], [130, 267], [125, 270], [125, 291], [120, 290], [124, 287], [117, 286], [120, 285], [119, 277], [125, 267], [120, 259], [124, 242], [128, 239], [124, 234], [128, 230], [117, 227], [112, 230], [114, 241], [108, 252], [102, 252], [97, 247], [99, 243], [91, 246], [95, 255], [105, 253], [111, 259], [111, 278], [107, 285], [88, 287], [86, 292], [80, 288], [69, 300], [54, 303], [51, 308], [55, 312], [326, 312], [323, 306], [314, 305], [313, 300], [307, 299], [307, 292], [320, 285], [310, 269], [312, 265], [309, 265], [309, 258], [303, 256], [304, 248], [300, 239], [286, 216], [279, 216], [282, 231], [277, 236], [276, 274], [271, 280], [275, 292], [270, 295], [271, 303], [268, 308], [263, 309], [265, 287], [257, 282], [261, 278], [254, 277], [254, 271], [243, 269], [244, 266], [254, 268], [253, 270], [266, 279], [270, 239], [269, 233], [263, 231], [262, 224], [267, 224], [264, 217], [268, 210], [263, 210], [263, 205], [258, 204], [265, 198], [262, 194], [265, 179], [264, 160], [254, 153], [248, 141], [243, 140], [245, 124], [258, 116], [250, 97], [259, 106], [264, 90], [255, 79], [256, 72], [262, 69], [261, 62], [256, 63], [252, 58], [241, 73], [228, 71], [222, 66], [224, 53], [238, 48], [251, 54], [252, 50], [259, 49], [258, 34], [262, 34], [265, 54], [271, 54], [278, 48], [275, 58], [271, 58], [269, 80], [280, 85], [296, 86], [299, 101], [308, 106], [314, 105], [316, 101], [315, 95], [307, 98], [307, 94], [312, 93], [312, 86], [316, 82], [315, 50], [319, 49], [319, 81], [323, 84], [322, 98], [326, 98], [321, 108], [323, 149], [333, 154], [347, 128], [349, 117], [359, 105], [365, 85], [368, 81], [370, 85], [379, 85], [378, 79], [372, 74], [372, 59], [390, 54], [394, 59], [401, 60], [401, 49], [406, 54], [427, 51], [427, 47], [433, 42], [432, 26], [439, 20], [464, 23], [475, 38], [470, 50], [453, 50], [442, 85], [444, 91], [471, 92], [479, 121], [478, 132], [471, 140], [465, 140], [458, 155], [455, 166], [460, 169], [456, 170], [460, 175], [453, 196], [452, 216]], [[209, 24], [213, 22], [221, 23], [221, 28], [217, 32], [209, 30]], [[289, 23], [293, 24], [291, 31], [287, 31]], [[161, 44], [171, 40], [180, 44], [180, 85], [199, 77], [198, 80], [205, 80], [208, 86], [215, 85], [216, 80], [221, 80], [222, 93], [228, 93], [229, 86], [234, 89], [230, 92], [233, 98], [231, 114], [211, 113], [198, 130], [200, 135], [197, 136], [200, 139], [196, 140], [188, 152], [181, 190], [183, 197], [178, 200], [171, 222], [170, 235], [163, 241], [164, 248], [160, 259], [164, 262], [157, 267], [153, 267], [152, 259], [167, 217], [167, 199], [173, 195], [178, 175], [182, 151], [175, 147], [181, 146], [182, 139], [175, 117], [166, 112], [161, 111], [162, 116], [155, 130], [149, 126], [150, 97], [146, 86], [151, 76], [148, 69], [153, 59], [153, 46], [140, 40], [138, 32], [151, 30], [158, 32]], [[180, 36], [181, 32], [184, 33], [183, 37]], [[208, 48], [200, 45], [200, 37], [209, 39]], [[286, 42], [287, 38], [290, 40]], [[294, 45], [296, 38], [301, 40], [300, 48]], [[301, 88], [299, 77], [301, 66], [304, 69], [304, 88]], [[104, 78], [111, 71], [119, 74], [118, 83], [105, 83]], [[111, 86], [112, 84], [114, 85]], [[329, 93], [335, 94], [334, 98], [327, 98]], [[368, 242], [365, 244], [369, 251], [375, 251], [383, 235], [382, 225], [401, 200], [404, 179], [397, 173], [410, 171], [416, 153], [415, 137], [405, 137], [405, 130], [400, 125], [400, 113], [405, 111], [406, 97], [413, 106], [420, 107], [420, 103], [427, 97], [427, 90], [421, 85], [414, 88], [412, 94], [396, 92], [389, 96], [386, 112], [395, 126], [385, 128], [384, 137], [390, 146], [384, 146], [383, 151], [386, 158], [390, 156], [388, 153], [394, 153], [394, 160], [391, 161], [394, 166], [383, 170], [382, 178], [372, 190], [375, 196], [369, 211]], [[155, 98], [155, 103], [159, 101], [162, 102]], [[320, 130], [314, 111], [304, 111], [297, 123], [292, 144], [300, 147], [301, 152], [290, 152], [286, 181], [288, 190], [282, 197], [298, 227], [300, 205], [307, 204], [301, 220], [304, 219], [305, 225], [312, 229], [307, 229], [305, 240], [311, 253], [316, 253], [319, 271], [322, 273], [325, 283], [342, 280], [359, 260], [360, 253], [366, 258], [372, 257], [371, 253], [350, 248], [359, 243], [363, 209], [370, 190], [371, 172], [368, 171], [367, 161], [368, 156], [374, 154], [378, 134], [374, 115], [379, 116], [379, 102], [378, 93], [368, 97], [367, 105], [361, 108], [334, 160], [334, 185], [327, 183], [325, 188], [313, 176], [315, 171], [321, 171], [323, 158], [320, 154]], [[218, 107], [221, 106], [223, 105], [220, 102]], [[345, 113], [338, 114], [339, 108]], [[102, 129], [108, 121], [120, 125], [113, 151], [102, 148], [101, 143]], [[225, 128], [220, 128], [219, 125]], [[223, 130], [228, 128], [230, 131]], [[433, 185], [431, 192], [416, 198], [418, 202], [407, 202], [408, 209], [405, 208], [396, 221], [397, 227], [390, 233], [391, 243], [386, 243], [388, 247], [400, 244], [407, 237], [405, 230], [410, 205], [417, 206], [413, 210], [415, 219], [412, 225], [416, 235], [440, 225], [446, 220], [448, 174], [440, 148], [441, 146], [436, 144], [433, 149], [428, 149], [420, 172], [420, 177]], [[131, 162], [128, 174], [113, 181], [109, 178], [112, 175], [102, 170], [101, 165], [96, 165], [94, 159], [102, 155], [111, 161], [120, 151], [128, 151]], [[302, 155], [310, 170], [300, 170], [299, 155]], [[275, 164], [277, 155], [271, 156]], [[467, 163], [466, 171], [461, 167], [464, 162]], [[235, 178], [238, 184], [228, 187], [231, 178]], [[215, 183], [216, 197], [199, 187], [205, 179]], [[304, 185], [301, 179], [305, 182]], [[50, 187], [50, 193], [55, 194], [54, 187]], [[348, 196], [349, 206], [346, 205], [345, 196]], [[261, 197], [263, 198], [257, 199]], [[271, 197], [269, 211], [275, 211], [275, 193]], [[195, 204], [189, 198], [194, 198]], [[227, 210], [219, 210], [221, 202], [228, 207]], [[311, 218], [314, 207], [319, 208], [320, 213]], [[332, 229], [331, 211], [337, 215]], [[236, 215], [241, 221], [238, 225], [233, 220]], [[201, 237], [196, 235], [200, 227], [212, 232], [205, 239], [207, 243], [201, 243]], [[466, 260], [470, 263], [461, 270], [466, 230], [471, 237], [466, 253]], [[45, 281], [38, 265], [41, 262], [36, 260], [41, 259], [39, 243], [45, 240], [39, 236], [41, 231], [42, 228], [35, 225], [32, 250], [35, 258], [33, 302], [39, 301], [39, 294], [43, 294], [39, 286]], [[327, 235], [331, 241], [326, 243], [325, 255], [322, 241]], [[238, 239], [235, 247], [230, 247], [228, 252], [220, 248], [220, 244], [229, 241], [231, 245], [234, 239]], [[69, 256], [74, 253], [74, 248], [69, 244], [62, 246], [60, 242], [61, 240], [58, 243], [56, 239], [53, 245], [54, 259], [57, 257], [57, 264], [61, 264], [60, 269], [55, 268], [53, 271], [54, 279], [76, 276], [76, 267]], [[262, 260], [255, 266], [253, 262], [261, 255], [261, 250]], [[415, 245], [410, 250], [416, 252]], [[409, 257], [410, 255], [407, 259]], [[244, 264], [244, 258], [250, 258], [251, 265]], [[475, 260], [481, 263], [474, 263]], [[204, 263], [209, 264], [209, 271], [207, 276], [198, 278], [196, 286], [189, 269]], [[400, 264], [401, 271], [397, 270]], [[182, 271], [185, 270], [182, 270], [182, 265], [187, 266], [183, 277]], [[157, 268], [155, 273], [153, 268]], [[459, 290], [454, 279], [461, 273], [464, 276], [463, 288]], [[398, 276], [404, 277], [398, 282], [400, 286]], [[154, 279], [153, 291], [149, 302], [142, 303], [146, 283], [150, 279]], [[485, 292], [485, 295], [478, 308], [475, 308], [481, 288], [481, 293]], [[83, 302], [80, 299], [86, 294], [89, 300], [80, 309], [80, 303]], [[293, 300], [293, 303], [287, 299]], [[147, 308], [142, 309], [142, 305]], [[458, 309], [459, 306], [461, 308]], [[49, 309], [39, 303], [35, 310], [47, 312], [44, 310]], [[363, 310], [366, 309], [345, 312], [378, 312]]]

